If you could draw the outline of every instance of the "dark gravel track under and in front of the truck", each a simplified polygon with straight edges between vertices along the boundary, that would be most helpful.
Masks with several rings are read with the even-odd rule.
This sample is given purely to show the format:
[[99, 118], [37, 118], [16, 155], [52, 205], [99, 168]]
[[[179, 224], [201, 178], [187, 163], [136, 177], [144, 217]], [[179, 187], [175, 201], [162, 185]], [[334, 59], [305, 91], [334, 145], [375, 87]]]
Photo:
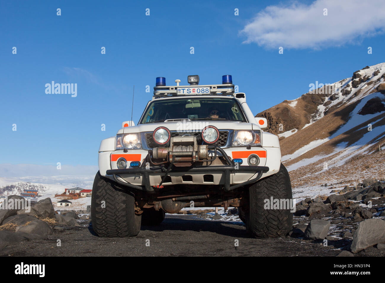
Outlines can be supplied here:
[[[58, 240], [61, 246], [57, 246]], [[235, 246], [236, 240], [238, 247]], [[193, 215], [173, 214], [166, 215], [159, 226], [142, 226], [139, 235], [132, 238], [100, 238], [94, 234], [91, 225], [84, 225], [54, 231], [47, 239], [12, 243], [0, 255], [335, 256], [340, 253], [336, 248], [348, 243], [347, 240], [329, 241], [328, 246], [322, 246], [320, 242], [289, 236], [255, 239], [246, 234], [241, 222], [211, 221]], [[373, 253], [377, 253], [376, 250], [373, 248]]]

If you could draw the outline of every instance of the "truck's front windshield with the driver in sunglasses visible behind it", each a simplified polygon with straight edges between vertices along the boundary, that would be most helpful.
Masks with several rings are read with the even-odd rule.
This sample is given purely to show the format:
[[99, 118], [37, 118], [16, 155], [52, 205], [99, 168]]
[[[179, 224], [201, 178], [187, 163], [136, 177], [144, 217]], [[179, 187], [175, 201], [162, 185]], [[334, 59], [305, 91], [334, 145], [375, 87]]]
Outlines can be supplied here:
[[140, 124], [172, 119], [247, 122], [235, 99], [183, 98], [151, 102]]

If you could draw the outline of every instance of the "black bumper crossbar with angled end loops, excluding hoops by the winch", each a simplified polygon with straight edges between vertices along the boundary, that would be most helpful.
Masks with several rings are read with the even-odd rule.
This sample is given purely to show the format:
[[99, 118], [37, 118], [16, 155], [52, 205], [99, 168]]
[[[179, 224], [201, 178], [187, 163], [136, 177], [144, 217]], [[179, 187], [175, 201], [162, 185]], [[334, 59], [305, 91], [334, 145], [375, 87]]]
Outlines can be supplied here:
[[[164, 166], [158, 168], [127, 168], [127, 169], [110, 169], [106, 171], [107, 175], [112, 176], [112, 178], [119, 184], [139, 189], [147, 192], [154, 192], [154, 186], [150, 186], [150, 175], [157, 174], [166, 176], [170, 173], [179, 173], [179, 174], [221, 174], [223, 176], [223, 186], [225, 191], [231, 191], [232, 189], [239, 188], [241, 186], [254, 183], [261, 178], [263, 173], [269, 171], [269, 167], [267, 166], [239, 166], [238, 169], [235, 169], [235, 166], [223, 165], [223, 166], [196, 166], [196, 167], [177, 167], [173, 166], [171, 169], [165, 169]], [[251, 173], [254, 172], [256, 175], [255, 178], [250, 178], [248, 181], [239, 184], [230, 183], [230, 174], [235, 174], [237, 172], [246, 172]], [[142, 186], [137, 186], [134, 184], [130, 184], [121, 177], [121, 175], [140, 175], [142, 178]]]

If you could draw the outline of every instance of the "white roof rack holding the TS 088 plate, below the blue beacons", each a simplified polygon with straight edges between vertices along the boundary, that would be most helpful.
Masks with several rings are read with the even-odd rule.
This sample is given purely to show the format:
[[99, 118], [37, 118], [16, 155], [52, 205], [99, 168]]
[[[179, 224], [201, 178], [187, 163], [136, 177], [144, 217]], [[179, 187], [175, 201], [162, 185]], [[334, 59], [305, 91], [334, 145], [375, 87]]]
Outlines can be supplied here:
[[183, 88], [197, 88], [197, 87], [210, 87], [210, 95], [232, 95], [234, 94], [233, 84], [211, 84], [211, 85], [172, 85], [172, 86], [157, 86], [154, 87], [154, 98], [168, 97], [168, 96], [196, 96], [196, 95], [209, 95], [205, 94], [178, 94], [177, 89]]

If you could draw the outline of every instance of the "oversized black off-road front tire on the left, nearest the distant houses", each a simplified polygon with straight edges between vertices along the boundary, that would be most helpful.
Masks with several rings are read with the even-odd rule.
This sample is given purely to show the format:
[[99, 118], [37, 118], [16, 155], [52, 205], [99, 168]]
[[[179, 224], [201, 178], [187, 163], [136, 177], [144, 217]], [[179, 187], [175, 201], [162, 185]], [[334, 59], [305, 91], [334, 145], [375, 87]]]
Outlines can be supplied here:
[[91, 198], [92, 228], [100, 237], [131, 237], [141, 230], [141, 215], [135, 214], [135, 198], [127, 189], [98, 171]]

